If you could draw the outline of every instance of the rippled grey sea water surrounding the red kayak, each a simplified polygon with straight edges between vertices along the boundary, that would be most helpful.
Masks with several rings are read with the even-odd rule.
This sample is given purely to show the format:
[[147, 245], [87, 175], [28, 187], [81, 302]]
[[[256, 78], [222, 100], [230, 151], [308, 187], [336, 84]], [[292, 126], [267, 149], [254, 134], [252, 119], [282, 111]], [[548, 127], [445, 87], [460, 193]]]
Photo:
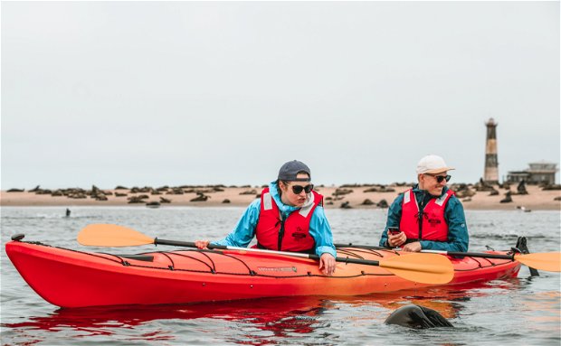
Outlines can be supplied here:
[[[5, 255], [15, 233], [25, 240], [81, 250], [80, 229], [115, 223], [151, 237], [193, 241], [222, 238], [242, 208], [2, 208], [2, 345], [559, 345], [561, 294], [558, 273], [454, 288], [358, 297], [296, 297], [214, 304], [138, 308], [59, 309], [25, 284]], [[338, 243], [376, 245], [385, 210], [327, 210]], [[471, 251], [509, 249], [518, 236], [531, 252], [559, 251], [558, 211], [467, 211]], [[138, 253], [153, 247], [128, 248]], [[121, 251], [122, 253], [122, 251]], [[77, 278], [79, 279], [79, 278]], [[110, 283], [107, 283], [110, 290]], [[449, 318], [455, 328], [412, 330], [386, 325], [404, 304], [421, 304]]]

